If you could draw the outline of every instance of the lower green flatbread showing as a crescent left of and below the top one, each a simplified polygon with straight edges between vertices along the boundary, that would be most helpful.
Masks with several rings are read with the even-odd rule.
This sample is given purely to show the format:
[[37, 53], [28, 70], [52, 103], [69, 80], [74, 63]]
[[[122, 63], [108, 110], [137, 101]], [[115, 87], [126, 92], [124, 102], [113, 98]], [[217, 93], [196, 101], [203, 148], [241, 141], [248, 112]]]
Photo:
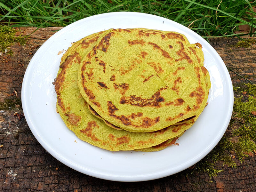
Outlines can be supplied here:
[[83, 38], [79, 41], [80, 44], [73, 44], [61, 59], [60, 70], [54, 85], [57, 93], [57, 110], [67, 127], [81, 140], [111, 151], [149, 148], [175, 138], [187, 130], [194, 120], [155, 132], [134, 133], [113, 129], [92, 115], [88, 110], [87, 102], [80, 94], [77, 75], [82, 58], [106, 33], [97, 33]]

